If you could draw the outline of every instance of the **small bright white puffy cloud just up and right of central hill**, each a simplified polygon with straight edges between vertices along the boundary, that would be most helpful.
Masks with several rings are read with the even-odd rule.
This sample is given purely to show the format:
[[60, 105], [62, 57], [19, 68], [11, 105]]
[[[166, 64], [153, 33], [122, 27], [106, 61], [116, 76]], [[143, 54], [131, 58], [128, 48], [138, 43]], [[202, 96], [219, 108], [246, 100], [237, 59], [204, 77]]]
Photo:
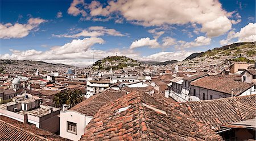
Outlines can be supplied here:
[[160, 44], [156, 41], [156, 39], [150, 39], [150, 38], [141, 38], [139, 40], [135, 40], [130, 45], [130, 49], [138, 48], [138, 47], [144, 47], [148, 46], [150, 48], [157, 48], [160, 47]]

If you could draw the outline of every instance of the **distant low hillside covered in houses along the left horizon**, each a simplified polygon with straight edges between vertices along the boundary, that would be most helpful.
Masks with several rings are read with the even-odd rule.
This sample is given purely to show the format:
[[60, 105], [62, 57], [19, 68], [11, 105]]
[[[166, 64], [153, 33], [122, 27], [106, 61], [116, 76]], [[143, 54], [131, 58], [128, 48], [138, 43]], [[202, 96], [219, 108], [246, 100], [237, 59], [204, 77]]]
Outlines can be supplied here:
[[3, 72], [35, 72], [39, 69], [40, 72], [67, 72], [69, 68], [76, 68], [65, 64], [52, 64], [43, 61], [30, 60], [0, 60], [0, 71]]

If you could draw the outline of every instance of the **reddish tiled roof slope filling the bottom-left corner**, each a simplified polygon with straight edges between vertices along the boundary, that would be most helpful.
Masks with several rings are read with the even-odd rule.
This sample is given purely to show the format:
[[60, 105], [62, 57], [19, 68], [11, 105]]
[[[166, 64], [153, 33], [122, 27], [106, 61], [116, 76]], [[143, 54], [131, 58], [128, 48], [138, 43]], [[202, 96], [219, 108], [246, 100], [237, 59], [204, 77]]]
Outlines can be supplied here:
[[68, 140], [46, 130], [36, 128], [0, 115], [0, 140]]

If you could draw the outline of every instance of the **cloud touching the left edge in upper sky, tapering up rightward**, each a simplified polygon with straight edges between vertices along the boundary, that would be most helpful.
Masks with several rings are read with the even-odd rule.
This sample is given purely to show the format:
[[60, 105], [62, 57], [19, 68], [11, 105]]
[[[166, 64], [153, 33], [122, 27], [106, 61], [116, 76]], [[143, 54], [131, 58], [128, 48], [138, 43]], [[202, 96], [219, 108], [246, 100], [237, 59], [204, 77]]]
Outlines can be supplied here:
[[30, 18], [26, 24], [20, 23], [0, 23], [0, 38], [23, 38], [27, 36], [31, 31], [36, 30], [39, 24], [47, 22], [47, 20], [40, 18]]

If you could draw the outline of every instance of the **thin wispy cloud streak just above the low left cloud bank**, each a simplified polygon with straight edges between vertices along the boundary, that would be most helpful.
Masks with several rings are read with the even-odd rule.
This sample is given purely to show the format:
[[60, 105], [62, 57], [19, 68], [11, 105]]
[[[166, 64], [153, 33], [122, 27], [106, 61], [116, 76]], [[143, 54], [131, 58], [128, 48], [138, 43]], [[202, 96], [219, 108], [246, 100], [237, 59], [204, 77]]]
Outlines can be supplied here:
[[82, 30], [77, 34], [61, 34], [61, 35], [55, 35], [57, 38], [65, 37], [65, 38], [78, 38], [80, 36], [83, 37], [98, 37], [103, 35], [112, 35], [112, 36], [125, 36], [121, 32], [116, 31], [115, 29], [108, 29], [102, 26], [93, 26], [89, 27], [86, 30]]

